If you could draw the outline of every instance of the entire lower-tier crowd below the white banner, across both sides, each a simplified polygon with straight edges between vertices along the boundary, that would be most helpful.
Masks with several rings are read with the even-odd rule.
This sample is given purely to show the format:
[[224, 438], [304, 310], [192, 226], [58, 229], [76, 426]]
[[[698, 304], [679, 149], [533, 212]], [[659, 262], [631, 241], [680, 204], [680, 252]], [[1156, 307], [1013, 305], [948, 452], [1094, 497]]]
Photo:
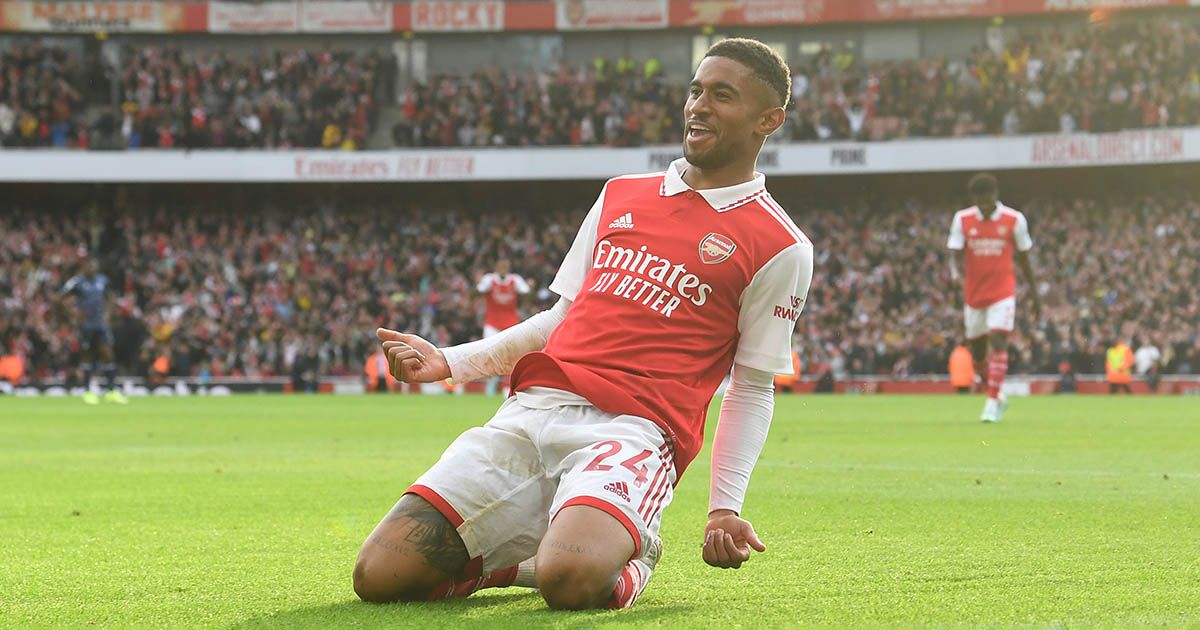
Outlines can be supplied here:
[[[437, 344], [475, 338], [474, 282], [499, 257], [534, 283], [524, 313], [548, 306], [545, 287], [583, 217], [336, 200], [254, 211], [127, 205], [0, 214], [0, 341], [26, 358], [31, 378], [78, 361], [78, 314], [61, 289], [88, 254], [114, 281], [109, 323], [122, 373], [145, 374], [158, 360], [179, 376], [288, 374], [302, 360], [356, 374], [379, 325]], [[946, 371], [962, 326], [961, 289], [947, 271], [948, 208], [864, 200], [793, 211], [818, 244], [794, 338], [806, 373]], [[1117, 338], [1159, 348], [1163, 373], [1200, 372], [1200, 199], [1048, 199], [1024, 210], [1045, 317], [1034, 325], [1020, 312], [1013, 373], [1062, 364], [1103, 373]]]

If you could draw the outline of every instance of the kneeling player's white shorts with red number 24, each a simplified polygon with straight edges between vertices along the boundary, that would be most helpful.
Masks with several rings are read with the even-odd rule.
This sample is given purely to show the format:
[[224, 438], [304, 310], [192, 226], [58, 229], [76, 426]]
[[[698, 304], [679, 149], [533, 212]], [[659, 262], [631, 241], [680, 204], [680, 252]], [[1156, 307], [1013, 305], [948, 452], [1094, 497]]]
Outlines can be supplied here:
[[408, 493], [454, 523], [485, 575], [532, 558], [569, 505], [614, 517], [640, 557], [671, 503], [671, 456], [662, 432], [643, 418], [592, 406], [536, 409], [514, 396], [460, 436]]

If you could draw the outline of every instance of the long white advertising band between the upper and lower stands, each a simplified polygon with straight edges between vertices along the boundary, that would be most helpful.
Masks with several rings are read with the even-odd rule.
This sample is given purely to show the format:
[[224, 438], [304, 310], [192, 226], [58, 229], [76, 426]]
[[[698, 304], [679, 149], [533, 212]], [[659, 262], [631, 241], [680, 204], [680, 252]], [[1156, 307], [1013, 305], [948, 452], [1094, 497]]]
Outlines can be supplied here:
[[[662, 170], [678, 145], [394, 151], [0, 150], [0, 181], [538, 181]], [[1200, 162], [1200, 127], [886, 143], [769, 143], [767, 175], [920, 173]], [[722, 242], [710, 242], [719, 256]]]

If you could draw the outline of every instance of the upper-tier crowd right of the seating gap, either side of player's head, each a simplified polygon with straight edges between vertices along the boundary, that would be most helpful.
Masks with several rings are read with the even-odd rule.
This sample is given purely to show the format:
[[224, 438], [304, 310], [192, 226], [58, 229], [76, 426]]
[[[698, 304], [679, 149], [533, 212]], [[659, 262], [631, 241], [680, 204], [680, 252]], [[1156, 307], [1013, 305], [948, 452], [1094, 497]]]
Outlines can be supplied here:
[[[793, 68], [796, 142], [1117, 131], [1200, 124], [1200, 28], [1166, 19], [1031, 29], [965, 59], [864, 62], [824, 47]], [[1187, 80], [1176, 80], [1187, 77]], [[410, 86], [401, 145], [674, 142], [685, 86], [656, 59]]]

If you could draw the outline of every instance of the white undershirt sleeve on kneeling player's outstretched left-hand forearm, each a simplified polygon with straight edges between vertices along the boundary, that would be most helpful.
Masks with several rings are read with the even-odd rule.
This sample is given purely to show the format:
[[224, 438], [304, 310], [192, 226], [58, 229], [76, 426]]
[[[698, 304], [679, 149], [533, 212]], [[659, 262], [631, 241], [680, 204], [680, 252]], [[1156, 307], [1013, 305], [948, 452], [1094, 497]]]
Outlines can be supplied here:
[[522, 356], [546, 347], [546, 340], [563, 323], [570, 306], [571, 301], [563, 298], [551, 308], [491, 337], [443, 349], [450, 378], [466, 383], [512, 372]]

